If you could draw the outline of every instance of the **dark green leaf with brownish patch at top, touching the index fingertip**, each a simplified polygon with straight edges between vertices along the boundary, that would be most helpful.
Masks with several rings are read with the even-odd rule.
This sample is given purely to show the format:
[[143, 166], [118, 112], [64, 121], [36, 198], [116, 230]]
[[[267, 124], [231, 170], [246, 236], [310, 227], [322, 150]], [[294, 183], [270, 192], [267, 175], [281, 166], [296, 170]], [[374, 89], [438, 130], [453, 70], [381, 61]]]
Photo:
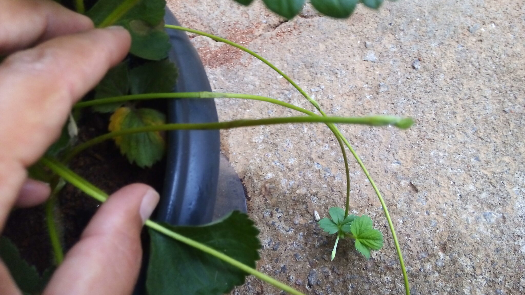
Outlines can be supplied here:
[[167, 57], [171, 46], [164, 31], [165, 6], [165, 0], [99, 0], [86, 15], [96, 26], [107, 23], [128, 29], [131, 54], [161, 60]]

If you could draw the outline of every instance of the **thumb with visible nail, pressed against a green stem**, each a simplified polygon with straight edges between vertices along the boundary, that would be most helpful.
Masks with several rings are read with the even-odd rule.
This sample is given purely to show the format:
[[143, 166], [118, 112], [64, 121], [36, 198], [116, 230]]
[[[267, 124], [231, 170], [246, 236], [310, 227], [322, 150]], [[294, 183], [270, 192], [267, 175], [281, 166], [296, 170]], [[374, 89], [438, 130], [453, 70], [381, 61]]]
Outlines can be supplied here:
[[131, 294], [142, 259], [140, 232], [158, 202], [159, 194], [144, 184], [128, 185], [109, 197], [44, 294]]

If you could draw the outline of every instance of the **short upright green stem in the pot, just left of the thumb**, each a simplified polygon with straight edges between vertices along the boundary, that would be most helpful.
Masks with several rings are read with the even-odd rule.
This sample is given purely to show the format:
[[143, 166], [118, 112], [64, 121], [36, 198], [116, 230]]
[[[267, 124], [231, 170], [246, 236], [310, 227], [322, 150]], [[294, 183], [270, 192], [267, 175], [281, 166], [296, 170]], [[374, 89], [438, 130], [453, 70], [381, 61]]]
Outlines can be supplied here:
[[55, 265], [59, 266], [62, 261], [64, 261], [64, 249], [62, 249], [62, 244], [60, 243], [60, 234], [57, 228], [56, 219], [56, 206], [57, 206], [57, 196], [62, 187], [64, 187], [64, 180], [58, 178], [54, 181], [53, 191], [45, 203], [45, 213], [46, 213], [46, 225], [47, 232], [49, 234], [49, 240], [51, 242], [51, 248], [53, 249], [53, 257], [55, 259]]

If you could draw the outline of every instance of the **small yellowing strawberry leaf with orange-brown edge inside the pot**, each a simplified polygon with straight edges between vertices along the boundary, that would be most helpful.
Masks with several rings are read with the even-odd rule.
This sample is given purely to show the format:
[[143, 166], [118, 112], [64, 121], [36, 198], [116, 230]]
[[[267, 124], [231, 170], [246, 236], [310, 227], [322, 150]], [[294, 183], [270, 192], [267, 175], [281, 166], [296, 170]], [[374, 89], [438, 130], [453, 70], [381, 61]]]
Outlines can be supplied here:
[[[109, 131], [149, 125], [161, 125], [165, 122], [163, 113], [153, 109], [117, 109], [110, 118]], [[139, 167], [151, 167], [162, 159], [165, 142], [161, 132], [142, 132], [122, 135], [115, 138], [120, 152], [128, 157], [130, 163]]]

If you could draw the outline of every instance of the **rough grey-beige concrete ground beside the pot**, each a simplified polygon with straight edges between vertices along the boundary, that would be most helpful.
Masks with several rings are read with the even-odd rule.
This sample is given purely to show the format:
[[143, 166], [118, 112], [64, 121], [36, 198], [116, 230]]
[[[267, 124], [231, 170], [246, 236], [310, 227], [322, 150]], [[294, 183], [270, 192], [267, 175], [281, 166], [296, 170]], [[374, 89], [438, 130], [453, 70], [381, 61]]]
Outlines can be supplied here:
[[[188, 27], [256, 50], [334, 115], [412, 116], [409, 130], [341, 126], [390, 208], [413, 294], [525, 291], [525, 4], [516, 0], [385, 2], [348, 20], [310, 7], [290, 22], [260, 1], [169, 1]], [[215, 91], [259, 94], [312, 109], [262, 62], [192, 36]], [[295, 114], [217, 100], [222, 120]], [[310, 294], [402, 294], [380, 203], [351, 161], [352, 212], [386, 237], [370, 260], [348, 240], [329, 261], [321, 216], [344, 204], [338, 145], [321, 124], [222, 132], [264, 245], [258, 268]], [[279, 294], [249, 278], [235, 294]]]

